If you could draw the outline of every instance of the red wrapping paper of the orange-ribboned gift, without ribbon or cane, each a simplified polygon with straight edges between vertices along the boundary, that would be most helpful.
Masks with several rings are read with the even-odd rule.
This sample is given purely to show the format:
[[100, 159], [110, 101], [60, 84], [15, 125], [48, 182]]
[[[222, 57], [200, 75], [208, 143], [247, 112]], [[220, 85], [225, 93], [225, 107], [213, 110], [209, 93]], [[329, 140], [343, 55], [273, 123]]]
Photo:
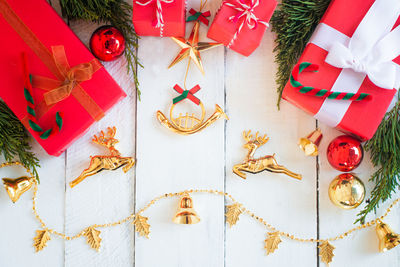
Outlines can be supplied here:
[[[23, 20], [50, 51], [52, 46], [64, 46], [71, 66], [94, 59], [94, 56], [47, 1], [7, 0], [7, 2], [18, 17]], [[0, 51], [3, 51], [2, 60], [0, 61], [0, 98], [22, 120], [27, 117], [27, 102], [24, 98], [24, 76], [21, 60], [22, 52], [27, 54], [31, 74], [52, 79], [56, 79], [56, 77], [1, 14], [0, 35], [2, 36]], [[80, 85], [103, 112], [109, 110], [126, 96], [104, 68], [95, 72], [91, 80], [82, 82]], [[35, 103], [41, 102], [44, 92], [41, 89], [33, 89]], [[39, 125], [43, 129], [52, 127], [57, 111], [64, 114], [64, 125], [58, 134], [43, 140], [32, 129], [28, 129], [47, 153], [54, 156], [60, 155], [95, 122], [85, 108], [71, 95], [57, 103], [41, 117], [38, 120]]]

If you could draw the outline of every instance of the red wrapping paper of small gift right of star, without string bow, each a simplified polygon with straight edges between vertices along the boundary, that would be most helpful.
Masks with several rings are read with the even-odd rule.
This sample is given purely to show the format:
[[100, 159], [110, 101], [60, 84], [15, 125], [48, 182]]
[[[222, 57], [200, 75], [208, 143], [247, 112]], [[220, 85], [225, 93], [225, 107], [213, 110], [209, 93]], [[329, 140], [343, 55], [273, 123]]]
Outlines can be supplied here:
[[[238, 11], [224, 5], [225, 2], [235, 4], [236, 0], [227, 0], [222, 3], [208, 30], [207, 37], [228, 46], [243, 18], [236, 23], [229, 21], [229, 18], [235, 16]], [[250, 1], [243, 0], [243, 2], [249, 3]], [[277, 2], [275, 0], [260, 0], [259, 5], [254, 10], [254, 14], [257, 18], [268, 22], [274, 13], [276, 5]], [[261, 23], [255, 29], [250, 29], [245, 24], [237, 39], [229, 48], [247, 57], [260, 45], [265, 30], [266, 26]]]

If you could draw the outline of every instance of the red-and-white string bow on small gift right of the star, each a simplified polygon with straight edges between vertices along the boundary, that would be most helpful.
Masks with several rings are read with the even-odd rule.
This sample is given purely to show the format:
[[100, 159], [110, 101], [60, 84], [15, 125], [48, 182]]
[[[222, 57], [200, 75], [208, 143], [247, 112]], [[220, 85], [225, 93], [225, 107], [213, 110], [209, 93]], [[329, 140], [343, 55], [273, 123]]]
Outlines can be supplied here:
[[238, 13], [235, 16], [229, 17], [228, 19], [229, 21], [237, 23], [240, 19], [243, 19], [242, 23], [240, 23], [239, 25], [239, 28], [233, 35], [232, 40], [227, 45], [228, 48], [230, 48], [236, 41], [239, 33], [241, 32], [245, 24], [247, 24], [249, 29], [256, 29], [258, 23], [261, 23], [266, 27], [269, 27], [269, 23], [267, 21], [257, 18], [257, 16], [254, 14], [254, 9], [260, 4], [259, 0], [251, 0], [250, 5], [243, 3], [242, 0], [236, 0], [236, 5], [228, 2], [225, 2], [224, 4], [238, 11]]

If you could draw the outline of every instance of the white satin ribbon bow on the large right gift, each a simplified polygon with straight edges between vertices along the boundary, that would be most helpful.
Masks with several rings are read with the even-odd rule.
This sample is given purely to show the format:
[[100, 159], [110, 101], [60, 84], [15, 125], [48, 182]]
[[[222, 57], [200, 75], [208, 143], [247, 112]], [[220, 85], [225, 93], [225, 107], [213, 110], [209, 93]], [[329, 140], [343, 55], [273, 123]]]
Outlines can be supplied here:
[[399, 17], [399, 3], [399, 0], [377, 0], [368, 12], [371, 14], [366, 15], [373, 14], [373, 19], [360, 23], [347, 46], [334, 42], [325, 61], [337, 68], [365, 73], [376, 86], [395, 88], [400, 76], [392, 60], [400, 54], [400, 27], [390, 30]]

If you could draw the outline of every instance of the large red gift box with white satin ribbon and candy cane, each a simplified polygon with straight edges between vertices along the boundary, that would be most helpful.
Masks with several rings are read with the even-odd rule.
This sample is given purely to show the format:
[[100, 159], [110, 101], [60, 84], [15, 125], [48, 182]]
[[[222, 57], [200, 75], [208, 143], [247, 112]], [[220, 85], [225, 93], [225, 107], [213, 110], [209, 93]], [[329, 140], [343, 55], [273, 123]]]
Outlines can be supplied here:
[[[331, 127], [371, 139], [400, 86], [399, 15], [397, 0], [333, 0], [282, 97]], [[308, 63], [318, 71], [299, 73]]]

